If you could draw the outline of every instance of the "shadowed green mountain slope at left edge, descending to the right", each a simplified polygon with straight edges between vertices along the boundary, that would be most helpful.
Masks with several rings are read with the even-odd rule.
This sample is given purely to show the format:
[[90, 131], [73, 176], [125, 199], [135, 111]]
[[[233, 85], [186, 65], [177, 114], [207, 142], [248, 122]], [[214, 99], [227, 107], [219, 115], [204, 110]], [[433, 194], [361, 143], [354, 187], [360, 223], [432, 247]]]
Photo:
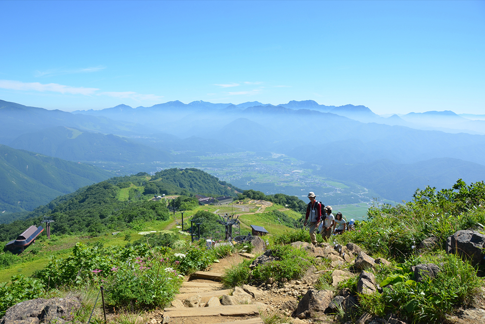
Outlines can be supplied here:
[[0, 223], [2, 216], [32, 211], [59, 195], [109, 176], [109, 172], [91, 165], [0, 145]]

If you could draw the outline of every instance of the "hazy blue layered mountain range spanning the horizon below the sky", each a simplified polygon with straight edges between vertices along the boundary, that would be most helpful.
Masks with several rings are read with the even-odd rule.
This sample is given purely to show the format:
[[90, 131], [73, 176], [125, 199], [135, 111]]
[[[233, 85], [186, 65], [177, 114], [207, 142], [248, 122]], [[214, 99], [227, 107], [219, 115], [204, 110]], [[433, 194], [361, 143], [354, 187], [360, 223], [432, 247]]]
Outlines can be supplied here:
[[277, 106], [170, 101], [73, 113], [0, 100], [0, 144], [116, 174], [180, 162], [210, 167], [200, 158], [208, 154], [272, 152], [401, 201], [427, 183], [450, 188], [457, 178], [485, 178], [482, 117], [445, 111], [385, 118], [365, 106], [312, 100]]

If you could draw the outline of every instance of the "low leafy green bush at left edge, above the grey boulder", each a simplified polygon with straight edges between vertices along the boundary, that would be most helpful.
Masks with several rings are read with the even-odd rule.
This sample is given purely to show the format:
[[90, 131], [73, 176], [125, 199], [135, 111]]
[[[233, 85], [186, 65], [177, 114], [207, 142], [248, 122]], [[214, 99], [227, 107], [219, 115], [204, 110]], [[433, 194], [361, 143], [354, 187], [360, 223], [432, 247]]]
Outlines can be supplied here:
[[44, 294], [44, 284], [40, 280], [14, 275], [10, 281], [0, 284], [0, 318], [5, 311], [24, 300], [42, 297]]

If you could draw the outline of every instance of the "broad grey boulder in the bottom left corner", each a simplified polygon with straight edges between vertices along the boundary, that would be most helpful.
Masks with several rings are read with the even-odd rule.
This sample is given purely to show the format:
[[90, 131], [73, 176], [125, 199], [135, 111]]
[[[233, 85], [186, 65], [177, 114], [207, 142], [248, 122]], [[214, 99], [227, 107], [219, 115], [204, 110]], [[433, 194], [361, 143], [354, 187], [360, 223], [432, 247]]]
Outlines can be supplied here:
[[32, 299], [7, 309], [0, 324], [38, 324], [72, 321], [81, 303], [76, 297]]

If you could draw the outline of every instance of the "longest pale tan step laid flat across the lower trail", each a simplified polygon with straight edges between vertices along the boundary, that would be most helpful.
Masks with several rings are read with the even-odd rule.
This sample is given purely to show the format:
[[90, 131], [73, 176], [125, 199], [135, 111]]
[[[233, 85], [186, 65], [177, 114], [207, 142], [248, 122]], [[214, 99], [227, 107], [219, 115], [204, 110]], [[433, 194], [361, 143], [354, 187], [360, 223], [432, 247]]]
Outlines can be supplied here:
[[259, 315], [257, 305], [229, 305], [204, 308], [164, 308], [163, 317], [253, 316]]

